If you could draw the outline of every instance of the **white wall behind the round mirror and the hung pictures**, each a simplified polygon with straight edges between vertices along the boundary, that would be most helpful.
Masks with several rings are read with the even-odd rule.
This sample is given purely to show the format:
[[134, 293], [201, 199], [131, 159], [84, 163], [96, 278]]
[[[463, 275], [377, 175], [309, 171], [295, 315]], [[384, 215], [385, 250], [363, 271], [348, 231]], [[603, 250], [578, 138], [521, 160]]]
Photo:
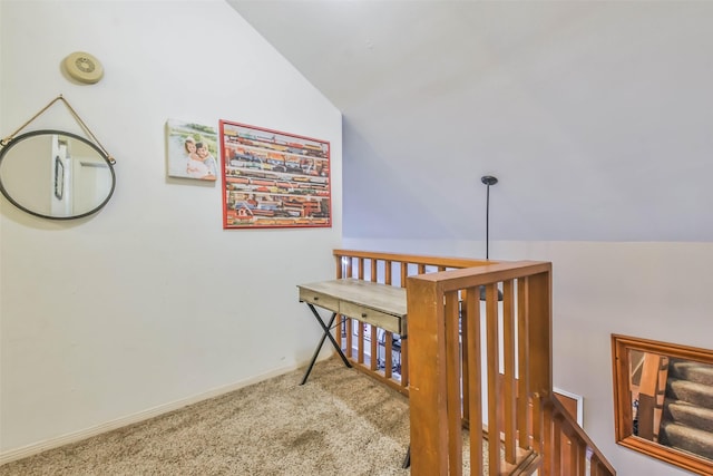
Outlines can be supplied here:
[[[4, 137], [64, 94], [116, 157], [87, 220], [0, 198], [0, 456], [304, 363], [320, 329], [295, 284], [333, 275], [341, 115], [222, 0], [0, 2]], [[85, 50], [97, 85], [60, 70]], [[331, 143], [331, 229], [222, 230], [221, 183], [166, 178], [166, 119]], [[79, 132], [58, 103], [33, 128]], [[178, 402], [178, 404], [176, 404]]]

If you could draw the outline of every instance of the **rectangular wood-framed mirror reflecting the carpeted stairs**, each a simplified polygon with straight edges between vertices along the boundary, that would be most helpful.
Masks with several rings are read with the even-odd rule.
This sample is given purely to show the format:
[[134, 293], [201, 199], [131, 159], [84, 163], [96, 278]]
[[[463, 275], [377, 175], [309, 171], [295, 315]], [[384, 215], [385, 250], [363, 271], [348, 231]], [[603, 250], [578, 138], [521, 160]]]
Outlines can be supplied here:
[[713, 350], [612, 334], [616, 443], [713, 474]]

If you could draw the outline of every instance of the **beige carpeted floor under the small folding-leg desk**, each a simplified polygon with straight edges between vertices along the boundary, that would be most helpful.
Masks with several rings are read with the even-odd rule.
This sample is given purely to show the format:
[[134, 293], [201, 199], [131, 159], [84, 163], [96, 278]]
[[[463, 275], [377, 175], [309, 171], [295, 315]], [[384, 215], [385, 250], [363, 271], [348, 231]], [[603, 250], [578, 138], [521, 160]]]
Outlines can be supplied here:
[[[408, 399], [339, 359], [3, 465], [31, 475], [408, 475]], [[466, 473], [468, 474], [468, 473]]]

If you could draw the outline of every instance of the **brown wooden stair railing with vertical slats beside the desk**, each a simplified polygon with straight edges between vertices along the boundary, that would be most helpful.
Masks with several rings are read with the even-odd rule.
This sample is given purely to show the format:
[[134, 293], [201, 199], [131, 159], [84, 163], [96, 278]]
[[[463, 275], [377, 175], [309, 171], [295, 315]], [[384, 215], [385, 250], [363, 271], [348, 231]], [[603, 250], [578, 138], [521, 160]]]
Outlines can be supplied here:
[[[389, 366], [379, 370], [375, 359], [367, 363], [363, 329], [352, 356], [351, 323], [342, 322], [354, 367], [410, 398], [411, 474], [461, 475], [465, 425], [471, 475], [484, 474], [484, 462], [489, 476], [616, 475], [553, 394], [550, 263], [350, 250], [334, 256], [338, 278], [407, 288], [400, 379]], [[377, 330], [370, 332], [374, 356]]]

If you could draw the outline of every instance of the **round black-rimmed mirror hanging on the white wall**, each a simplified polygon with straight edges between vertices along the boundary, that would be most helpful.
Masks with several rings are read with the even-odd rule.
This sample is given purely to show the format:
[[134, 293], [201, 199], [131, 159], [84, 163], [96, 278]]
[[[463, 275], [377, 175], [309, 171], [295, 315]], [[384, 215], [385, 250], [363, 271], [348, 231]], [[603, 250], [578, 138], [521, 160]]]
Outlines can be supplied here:
[[61, 130], [33, 130], [0, 152], [0, 192], [36, 216], [70, 220], [99, 211], [111, 197], [116, 175], [95, 144]]

